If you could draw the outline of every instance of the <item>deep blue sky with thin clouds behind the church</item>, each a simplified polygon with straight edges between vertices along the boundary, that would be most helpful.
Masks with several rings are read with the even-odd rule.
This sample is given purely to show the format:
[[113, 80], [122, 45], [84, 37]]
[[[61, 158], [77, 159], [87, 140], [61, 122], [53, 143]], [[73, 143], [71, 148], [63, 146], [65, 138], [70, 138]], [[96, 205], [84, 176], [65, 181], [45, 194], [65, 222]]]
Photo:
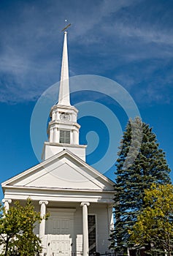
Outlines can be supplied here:
[[[171, 0], [1, 0], [1, 181], [38, 162], [31, 146], [31, 114], [40, 95], [60, 78], [65, 19], [72, 23], [68, 33], [70, 76], [99, 75], [123, 86], [142, 120], [153, 127], [172, 169]], [[91, 96], [86, 94], [85, 99], [91, 100]], [[116, 112], [111, 100], [103, 97], [101, 104]], [[125, 129], [126, 118], [120, 112], [117, 118]], [[81, 119], [82, 143], [85, 123]], [[102, 136], [101, 129], [96, 132]], [[99, 150], [104, 146], [103, 142]], [[116, 148], [118, 145], [115, 159]], [[88, 162], [92, 164], [95, 158], [96, 154], [88, 156]], [[114, 170], [112, 167], [107, 176], [113, 178]]]

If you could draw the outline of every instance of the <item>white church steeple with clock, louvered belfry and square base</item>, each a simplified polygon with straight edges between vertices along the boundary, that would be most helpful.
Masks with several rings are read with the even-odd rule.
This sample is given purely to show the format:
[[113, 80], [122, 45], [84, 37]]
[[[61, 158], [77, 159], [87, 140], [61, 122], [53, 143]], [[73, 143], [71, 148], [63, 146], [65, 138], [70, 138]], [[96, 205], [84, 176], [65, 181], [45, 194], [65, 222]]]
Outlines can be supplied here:
[[50, 122], [47, 128], [48, 142], [45, 142], [42, 159], [47, 159], [64, 149], [68, 149], [85, 161], [86, 146], [79, 145], [80, 124], [77, 124], [78, 110], [70, 105], [66, 35], [67, 32], [65, 31], [58, 104], [54, 105], [50, 110]]

